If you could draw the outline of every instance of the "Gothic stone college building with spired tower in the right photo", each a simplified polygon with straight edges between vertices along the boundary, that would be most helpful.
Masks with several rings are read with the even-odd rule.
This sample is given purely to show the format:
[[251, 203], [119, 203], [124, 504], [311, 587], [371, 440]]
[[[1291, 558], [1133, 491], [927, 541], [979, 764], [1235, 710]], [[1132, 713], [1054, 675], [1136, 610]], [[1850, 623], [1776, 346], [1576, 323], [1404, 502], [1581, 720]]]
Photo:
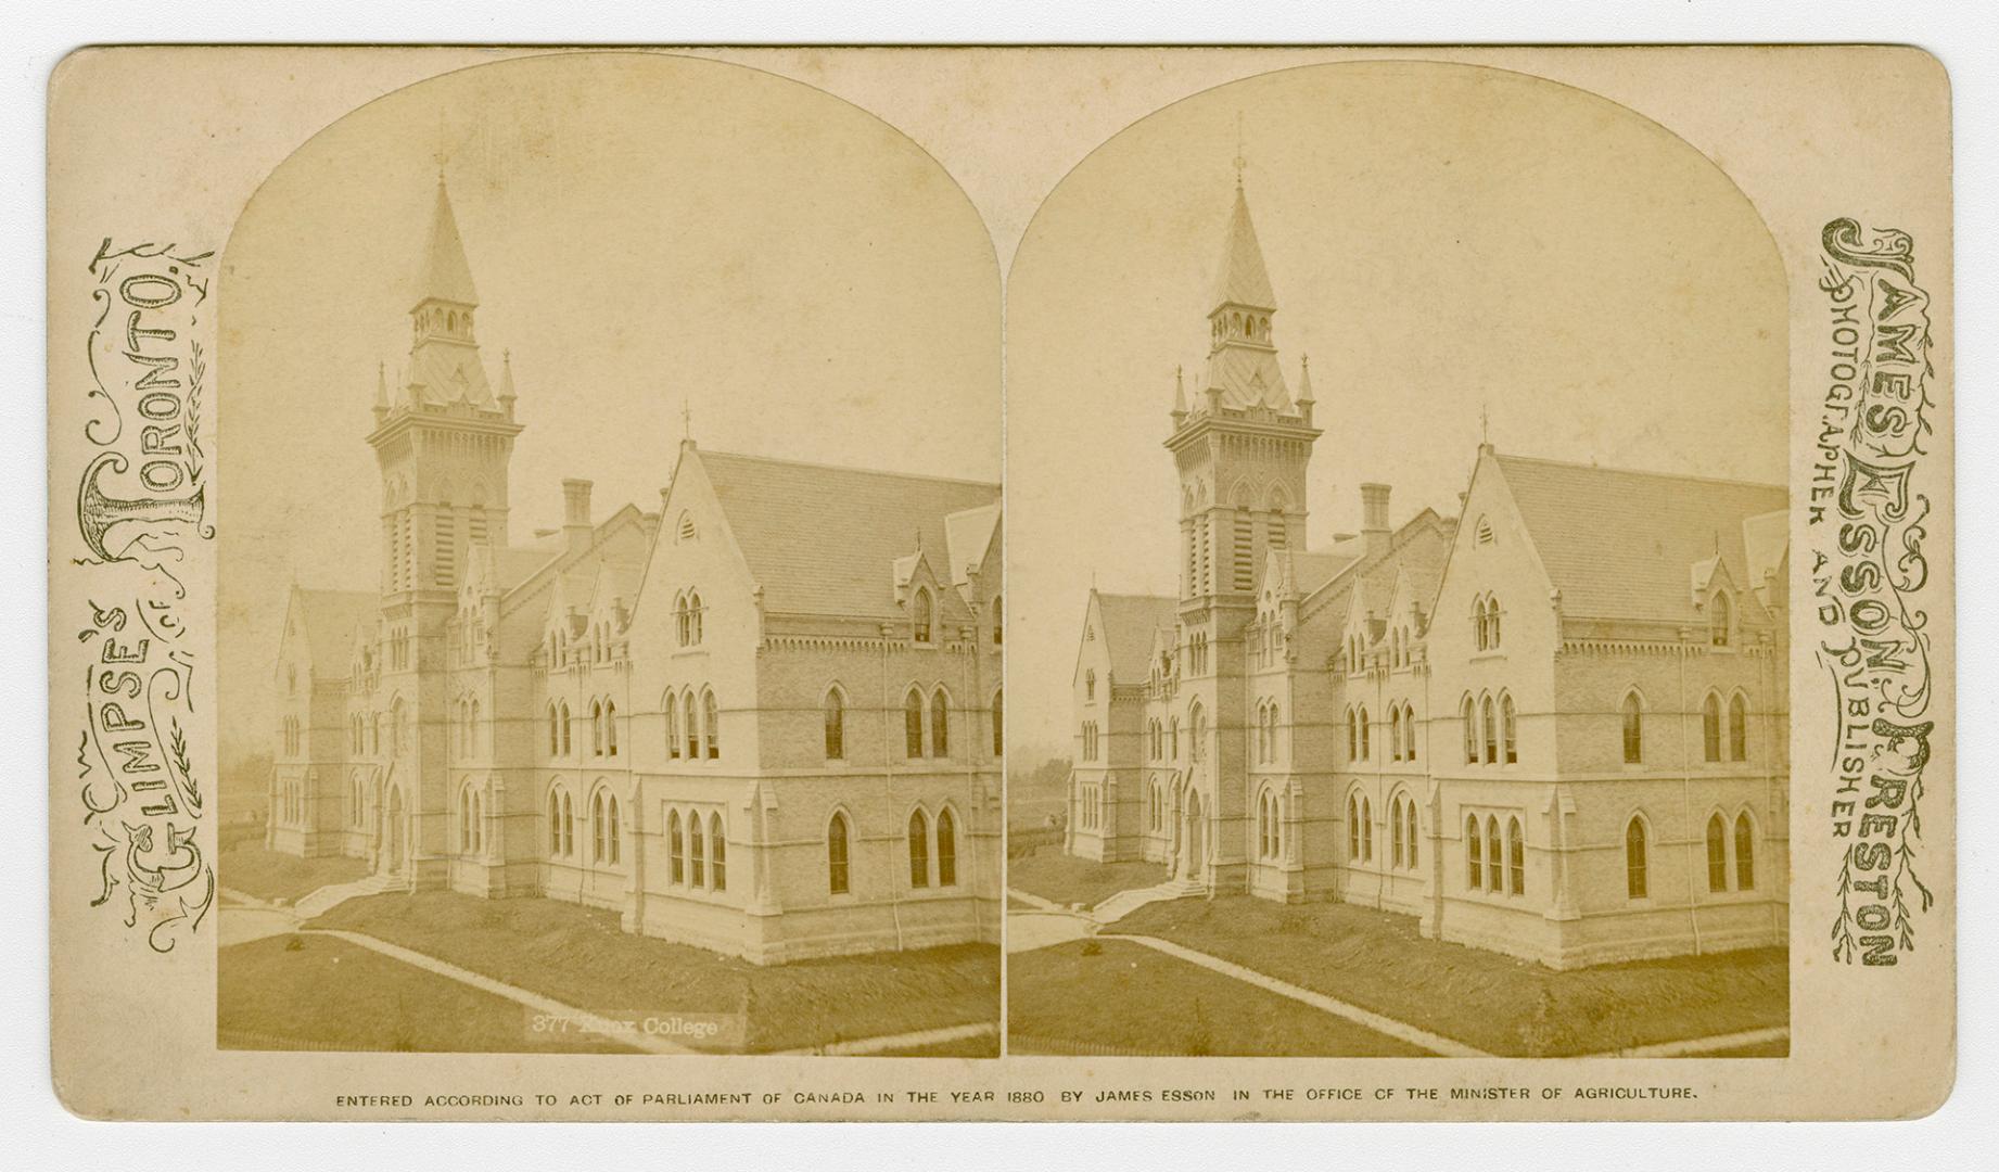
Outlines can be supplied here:
[[1785, 940], [1787, 496], [1505, 456], [1461, 516], [1311, 546], [1309, 366], [1277, 364], [1237, 186], [1179, 596], [1089, 594], [1067, 850], [1345, 900], [1555, 968]]

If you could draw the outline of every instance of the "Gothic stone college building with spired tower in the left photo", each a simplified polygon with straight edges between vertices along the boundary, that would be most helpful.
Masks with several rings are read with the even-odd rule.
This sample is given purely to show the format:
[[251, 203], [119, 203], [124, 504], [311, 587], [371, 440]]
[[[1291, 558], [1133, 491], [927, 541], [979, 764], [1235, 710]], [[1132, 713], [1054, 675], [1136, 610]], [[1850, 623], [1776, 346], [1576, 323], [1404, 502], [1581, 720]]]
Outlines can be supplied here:
[[422, 282], [380, 590], [290, 596], [268, 844], [754, 962], [996, 942], [1000, 486], [686, 440], [658, 512], [566, 480], [512, 544], [442, 182]]

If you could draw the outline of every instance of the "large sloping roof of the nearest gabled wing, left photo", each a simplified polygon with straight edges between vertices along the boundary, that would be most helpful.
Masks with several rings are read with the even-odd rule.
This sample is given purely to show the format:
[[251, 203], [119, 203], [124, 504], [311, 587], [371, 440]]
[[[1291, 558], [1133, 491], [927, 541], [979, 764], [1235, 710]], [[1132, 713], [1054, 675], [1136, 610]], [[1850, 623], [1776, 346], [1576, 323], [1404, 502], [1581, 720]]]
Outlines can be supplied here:
[[1000, 486], [696, 450], [730, 532], [784, 614], [902, 618], [896, 558], [952, 554], [946, 518], [994, 506]]

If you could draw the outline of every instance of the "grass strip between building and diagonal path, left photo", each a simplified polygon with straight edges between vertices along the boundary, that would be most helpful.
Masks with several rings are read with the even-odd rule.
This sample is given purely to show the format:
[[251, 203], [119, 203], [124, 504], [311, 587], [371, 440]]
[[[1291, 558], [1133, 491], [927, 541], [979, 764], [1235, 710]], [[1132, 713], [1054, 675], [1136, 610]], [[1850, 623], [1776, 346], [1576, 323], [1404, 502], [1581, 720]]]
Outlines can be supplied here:
[[362, 896], [308, 926], [364, 932], [600, 1014], [744, 1014], [750, 1052], [1000, 1018], [992, 944], [756, 966], [632, 936], [616, 912], [454, 892]]

